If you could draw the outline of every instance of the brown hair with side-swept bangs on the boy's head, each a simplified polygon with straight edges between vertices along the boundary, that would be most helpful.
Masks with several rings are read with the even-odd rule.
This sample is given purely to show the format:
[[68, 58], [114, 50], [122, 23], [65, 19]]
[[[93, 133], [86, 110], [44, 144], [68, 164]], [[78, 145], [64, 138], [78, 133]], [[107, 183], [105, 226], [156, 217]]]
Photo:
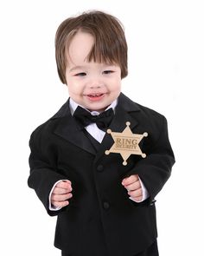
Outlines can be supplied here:
[[79, 31], [93, 36], [94, 43], [87, 61], [118, 64], [121, 78], [127, 71], [127, 43], [123, 25], [112, 15], [101, 11], [84, 12], [80, 16], [69, 17], [61, 23], [55, 36], [55, 57], [61, 82], [66, 81], [67, 49], [73, 36]]

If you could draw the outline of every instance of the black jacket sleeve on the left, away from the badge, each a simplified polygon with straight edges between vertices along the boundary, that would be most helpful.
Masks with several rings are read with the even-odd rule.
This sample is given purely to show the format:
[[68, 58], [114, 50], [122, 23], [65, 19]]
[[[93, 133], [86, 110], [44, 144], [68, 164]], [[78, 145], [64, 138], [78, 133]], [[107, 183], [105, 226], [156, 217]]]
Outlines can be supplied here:
[[43, 143], [46, 142], [41, 137], [40, 130], [35, 130], [30, 136], [29, 147], [31, 152], [29, 155], [30, 174], [28, 185], [35, 189], [35, 193], [46, 208], [48, 214], [54, 216], [63, 209], [60, 211], [49, 210], [49, 194], [56, 181], [65, 180], [67, 177], [57, 173], [54, 165], [50, 163], [46, 154], [42, 152]]

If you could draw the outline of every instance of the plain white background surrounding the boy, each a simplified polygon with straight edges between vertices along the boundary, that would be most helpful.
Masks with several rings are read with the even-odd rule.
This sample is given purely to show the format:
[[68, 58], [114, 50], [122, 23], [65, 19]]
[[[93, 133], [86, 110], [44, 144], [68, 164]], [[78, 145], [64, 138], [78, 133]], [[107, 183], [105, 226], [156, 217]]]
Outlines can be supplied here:
[[203, 4], [0, 2], [1, 255], [61, 255], [53, 246], [56, 219], [27, 187], [29, 135], [67, 101], [54, 59], [58, 25], [68, 16], [93, 9], [108, 11], [124, 23], [129, 44], [124, 94], [169, 121], [176, 164], [156, 198], [160, 255], [204, 255]]

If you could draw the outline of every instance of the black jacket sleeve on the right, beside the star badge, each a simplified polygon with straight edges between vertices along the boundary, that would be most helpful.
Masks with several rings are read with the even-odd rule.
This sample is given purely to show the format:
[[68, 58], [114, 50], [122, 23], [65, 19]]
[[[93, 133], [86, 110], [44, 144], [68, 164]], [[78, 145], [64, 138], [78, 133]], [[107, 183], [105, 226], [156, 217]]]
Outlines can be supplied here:
[[163, 116], [157, 140], [153, 141], [146, 158], [138, 161], [128, 175], [138, 174], [150, 194], [150, 200], [154, 200], [169, 179], [174, 163], [175, 156], [169, 143], [167, 121]]

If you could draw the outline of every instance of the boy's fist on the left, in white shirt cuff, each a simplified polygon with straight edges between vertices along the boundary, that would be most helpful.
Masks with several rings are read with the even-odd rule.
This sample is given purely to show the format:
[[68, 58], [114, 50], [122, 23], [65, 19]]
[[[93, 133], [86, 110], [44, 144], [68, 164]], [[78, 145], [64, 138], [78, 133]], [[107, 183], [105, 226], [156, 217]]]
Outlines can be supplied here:
[[54, 207], [67, 207], [73, 194], [70, 192], [73, 190], [71, 181], [60, 181], [54, 187], [53, 193], [51, 194], [51, 204]]

